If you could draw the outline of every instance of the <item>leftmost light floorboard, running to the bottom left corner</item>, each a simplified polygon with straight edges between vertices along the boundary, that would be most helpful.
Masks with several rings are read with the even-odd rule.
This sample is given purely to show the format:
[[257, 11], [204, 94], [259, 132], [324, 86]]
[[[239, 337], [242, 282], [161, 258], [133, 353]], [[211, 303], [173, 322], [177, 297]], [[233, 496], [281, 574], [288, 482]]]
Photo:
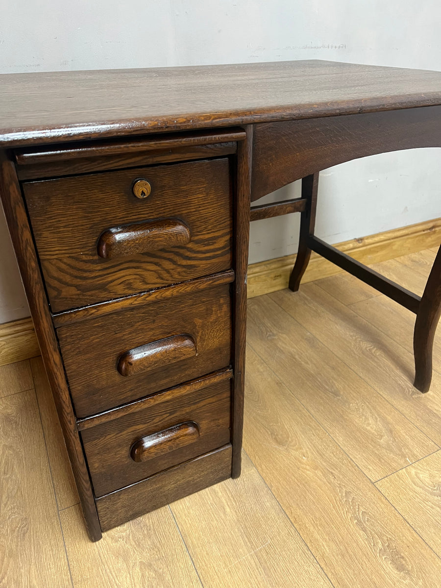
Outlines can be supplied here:
[[72, 586], [34, 390], [0, 400], [0, 586]]

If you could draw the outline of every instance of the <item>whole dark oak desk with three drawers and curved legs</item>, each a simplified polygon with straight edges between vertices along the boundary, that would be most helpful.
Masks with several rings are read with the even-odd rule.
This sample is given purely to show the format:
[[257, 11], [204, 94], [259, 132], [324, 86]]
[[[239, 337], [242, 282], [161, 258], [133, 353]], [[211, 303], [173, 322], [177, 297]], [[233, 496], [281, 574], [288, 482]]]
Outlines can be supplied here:
[[[441, 74], [324, 61], [1, 76], [0, 191], [92, 540], [240, 473], [250, 201], [303, 178], [310, 250], [422, 300], [313, 235], [318, 173], [441, 146]], [[420, 368], [418, 368], [420, 366]], [[420, 381], [418, 378], [420, 377]], [[26, 442], [26, 440], [24, 440]]]

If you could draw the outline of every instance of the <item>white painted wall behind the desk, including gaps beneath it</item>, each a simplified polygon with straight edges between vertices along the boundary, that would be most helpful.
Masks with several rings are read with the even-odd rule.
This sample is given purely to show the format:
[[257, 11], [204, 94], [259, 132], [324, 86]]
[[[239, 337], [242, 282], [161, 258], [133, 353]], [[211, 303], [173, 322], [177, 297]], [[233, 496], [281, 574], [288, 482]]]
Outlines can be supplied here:
[[[439, 0], [0, 0], [0, 72], [286, 59], [441, 69], [440, 18]], [[390, 153], [323, 172], [317, 234], [336, 243], [441, 216], [439, 156]], [[298, 215], [252, 223], [250, 262], [294, 253], [297, 232]], [[0, 216], [0, 323], [27, 315]]]

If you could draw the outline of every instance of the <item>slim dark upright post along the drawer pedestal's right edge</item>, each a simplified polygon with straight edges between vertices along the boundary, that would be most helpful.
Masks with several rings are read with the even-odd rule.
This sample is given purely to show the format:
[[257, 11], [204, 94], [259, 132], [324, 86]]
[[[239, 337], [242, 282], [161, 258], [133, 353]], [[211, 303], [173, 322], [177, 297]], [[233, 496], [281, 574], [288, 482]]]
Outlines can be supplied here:
[[248, 243], [250, 222], [251, 161], [253, 127], [246, 127], [246, 140], [238, 143], [235, 206], [235, 303], [233, 335], [234, 387], [232, 402], [232, 477], [240, 476], [242, 457], [243, 400], [245, 396], [246, 343], [246, 276], [248, 273]]

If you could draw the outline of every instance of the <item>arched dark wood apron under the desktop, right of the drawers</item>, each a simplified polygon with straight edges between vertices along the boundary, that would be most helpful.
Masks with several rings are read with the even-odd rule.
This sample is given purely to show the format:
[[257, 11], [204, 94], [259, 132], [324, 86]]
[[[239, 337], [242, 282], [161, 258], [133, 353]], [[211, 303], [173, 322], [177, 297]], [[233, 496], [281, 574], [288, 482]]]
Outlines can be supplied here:
[[440, 118], [433, 106], [255, 125], [251, 199], [351, 159], [440, 147]]

